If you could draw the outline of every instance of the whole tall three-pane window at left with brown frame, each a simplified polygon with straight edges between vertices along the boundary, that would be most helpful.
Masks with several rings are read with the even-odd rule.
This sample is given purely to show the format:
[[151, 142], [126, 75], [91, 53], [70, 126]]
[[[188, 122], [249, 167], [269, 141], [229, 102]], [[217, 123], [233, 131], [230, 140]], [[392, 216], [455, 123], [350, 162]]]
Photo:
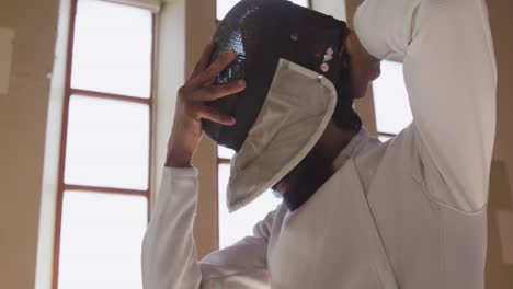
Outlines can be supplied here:
[[146, 9], [73, 3], [54, 289], [142, 287], [153, 27]]

